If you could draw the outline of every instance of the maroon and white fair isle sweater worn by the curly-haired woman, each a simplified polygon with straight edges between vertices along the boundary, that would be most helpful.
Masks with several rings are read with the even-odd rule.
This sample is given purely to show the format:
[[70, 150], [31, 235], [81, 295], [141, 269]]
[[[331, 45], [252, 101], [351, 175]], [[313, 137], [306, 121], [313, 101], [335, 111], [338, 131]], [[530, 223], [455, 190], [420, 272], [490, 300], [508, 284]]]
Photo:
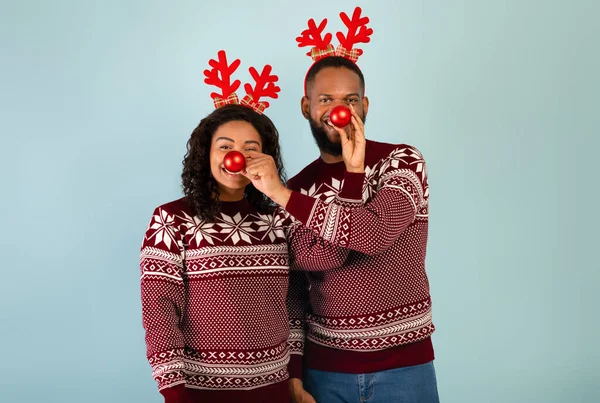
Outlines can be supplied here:
[[211, 222], [184, 199], [155, 209], [141, 247], [142, 317], [167, 402], [289, 402], [288, 248], [315, 270], [342, 263], [282, 209], [223, 202]]

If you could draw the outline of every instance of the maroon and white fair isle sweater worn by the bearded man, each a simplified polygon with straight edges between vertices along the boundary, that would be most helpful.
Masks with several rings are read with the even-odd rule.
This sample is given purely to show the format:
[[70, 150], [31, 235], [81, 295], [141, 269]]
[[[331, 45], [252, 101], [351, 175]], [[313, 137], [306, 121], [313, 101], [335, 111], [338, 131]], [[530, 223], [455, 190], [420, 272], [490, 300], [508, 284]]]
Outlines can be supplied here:
[[292, 376], [302, 376], [303, 364], [368, 373], [433, 360], [425, 272], [429, 190], [421, 153], [368, 140], [364, 174], [318, 158], [288, 187], [295, 192], [286, 210], [339, 247], [345, 260], [327, 271], [297, 271], [314, 270], [310, 262], [292, 266]]

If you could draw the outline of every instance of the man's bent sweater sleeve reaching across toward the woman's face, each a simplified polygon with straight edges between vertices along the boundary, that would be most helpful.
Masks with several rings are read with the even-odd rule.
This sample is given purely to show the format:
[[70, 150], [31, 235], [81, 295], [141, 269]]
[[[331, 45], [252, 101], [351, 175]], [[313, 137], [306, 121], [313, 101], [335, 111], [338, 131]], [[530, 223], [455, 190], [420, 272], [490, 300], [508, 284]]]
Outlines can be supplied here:
[[[377, 190], [363, 205], [349, 207], [289, 191], [285, 209], [322, 239], [367, 255], [389, 248], [418, 215], [427, 214], [429, 189], [425, 160], [413, 147], [394, 149], [379, 169]], [[346, 172], [346, 182], [364, 174]], [[344, 194], [342, 189], [340, 194]], [[353, 194], [352, 191], [348, 192]], [[285, 197], [282, 197], [285, 200]]]

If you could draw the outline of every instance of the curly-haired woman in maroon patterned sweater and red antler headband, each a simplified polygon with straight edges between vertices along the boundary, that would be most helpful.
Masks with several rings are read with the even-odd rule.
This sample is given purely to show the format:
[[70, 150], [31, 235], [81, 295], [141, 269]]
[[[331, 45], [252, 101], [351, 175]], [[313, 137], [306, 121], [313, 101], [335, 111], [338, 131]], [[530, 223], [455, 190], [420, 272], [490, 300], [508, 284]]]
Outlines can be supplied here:
[[[278, 87], [264, 85], [277, 77], [270, 66], [260, 76], [251, 68], [264, 88], [246, 85], [237, 104], [239, 82], [215, 79], [219, 69], [229, 78], [236, 63], [219, 52], [205, 71], [223, 90], [212, 94], [217, 109], [188, 141], [184, 197], [154, 210], [141, 248], [147, 358], [166, 403], [288, 403], [287, 380], [301, 371], [290, 350], [302, 349], [302, 335], [290, 335], [288, 313], [298, 313], [286, 306], [289, 266], [327, 270], [347, 255], [266, 196], [285, 183], [279, 134], [260, 102], [277, 97]], [[225, 169], [232, 150], [247, 170]]]

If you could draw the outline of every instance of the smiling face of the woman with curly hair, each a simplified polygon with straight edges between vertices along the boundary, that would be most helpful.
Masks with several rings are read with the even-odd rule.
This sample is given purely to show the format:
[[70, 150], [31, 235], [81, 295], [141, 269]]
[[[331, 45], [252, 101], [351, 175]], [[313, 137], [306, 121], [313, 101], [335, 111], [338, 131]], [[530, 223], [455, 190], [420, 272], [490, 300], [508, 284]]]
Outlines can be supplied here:
[[262, 152], [260, 135], [250, 123], [231, 121], [219, 126], [210, 144], [210, 171], [217, 181], [220, 199], [236, 201], [244, 197], [250, 181], [239, 173], [229, 173], [223, 166], [223, 157], [229, 151], [239, 151], [248, 158], [249, 151]]

